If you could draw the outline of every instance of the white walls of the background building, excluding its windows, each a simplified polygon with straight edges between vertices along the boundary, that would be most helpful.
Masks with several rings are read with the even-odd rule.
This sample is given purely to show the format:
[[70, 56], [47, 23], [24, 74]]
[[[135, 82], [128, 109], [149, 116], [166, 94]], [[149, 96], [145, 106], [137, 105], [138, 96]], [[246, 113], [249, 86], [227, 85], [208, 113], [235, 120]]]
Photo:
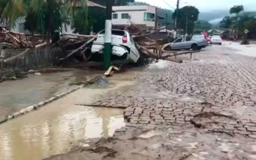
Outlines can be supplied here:
[[[113, 11], [115, 11], [113, 14], [118, 14], [118, 19], [112, 19], [113, 25], [126, 25], [132, 22], [148, 27], [155, 26], [155, 22], [144, 21], [144, 12], [156, 13], [156, 8], [153, 6], [114, 6]], [[122, 13], [128, 13], [131, 19], [121, 19]]]

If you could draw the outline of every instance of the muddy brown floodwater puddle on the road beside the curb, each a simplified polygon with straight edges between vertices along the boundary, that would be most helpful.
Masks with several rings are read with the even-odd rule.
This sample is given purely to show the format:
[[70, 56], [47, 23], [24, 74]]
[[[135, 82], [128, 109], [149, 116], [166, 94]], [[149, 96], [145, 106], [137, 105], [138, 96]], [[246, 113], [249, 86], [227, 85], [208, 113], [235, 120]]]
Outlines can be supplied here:
[[81, 88], [39, 110], [0, 125], [0, 160], [40, 160], [88, 145], [88, 138], [112, 136], [125, 125], [122, 109], [87, 107], [123, 82], [102, 90]]

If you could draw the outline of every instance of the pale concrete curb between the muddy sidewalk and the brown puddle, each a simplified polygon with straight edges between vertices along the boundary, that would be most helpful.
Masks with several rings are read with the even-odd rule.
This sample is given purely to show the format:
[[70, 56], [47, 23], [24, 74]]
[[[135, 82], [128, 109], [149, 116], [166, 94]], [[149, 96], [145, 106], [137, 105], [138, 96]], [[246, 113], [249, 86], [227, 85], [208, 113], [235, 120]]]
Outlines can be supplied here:
[[24, 115], [24, 114], [26, 114], [26, 113], [29, 113], [29, 112], [31, 112], [31, 111], [33, 111], [33, 110], [36, 110], [37, 108], [42, 107], [42, 106], [44, 106], [44, 105], [46, 105], [46, 104], [48, 104], [48, 103], [51, 103], [51, 102], [53, 102], [53, 101], [55, 101], [55, 100], [57, 100], [57, 99], [60, 99], [60, 98], [62, 98], [62, 97], [64, 97], [64, 96], [66, 96], [66, 95], [68, 95], [68, 94], [70, 94], [70, 93], [72, 93], [72, 92], [74, 92], [74, 91], [80, 89], [80, 88], [82, 88], [82, 86], [78, 86], [78, 87], [76, 87], [76, 88], [74, 88], [74, 89], [72, 89], [72, 90], [69, 90], [69, 91], [67, 91], [67, 92], [64, 92], [64, 93], [61, 93], [61, 94], [57, 94], [57, 95], [55, 95], [55, 96], [49, 98], [49, 99], [46, 100], [46, 101], [39, 102], [38, 104], [35, 104], [35, 105], [32, 105], [32, 106], [28, 106], [28, 107], [26, 107], [26, 108], [23, 108], [23, 109], [21, 109], [21, 110], [15, 112], [15, 113], [13, 113], [13, 114], [11, 114], [11, 115], [6, 116], [4, 119], [2, 119], [2, 120], [0, 121], [0, 124], [1, 124], [1, 123], [4, 123], [4, 122], [6, 122], [6, 121], [9, 121], [9, 120], [11, 120], [11, 119], [14, 119], [14, 118], [16, 118], [16, 117], [18, 117], [18, 116], [21, 116], [21, 115]]

